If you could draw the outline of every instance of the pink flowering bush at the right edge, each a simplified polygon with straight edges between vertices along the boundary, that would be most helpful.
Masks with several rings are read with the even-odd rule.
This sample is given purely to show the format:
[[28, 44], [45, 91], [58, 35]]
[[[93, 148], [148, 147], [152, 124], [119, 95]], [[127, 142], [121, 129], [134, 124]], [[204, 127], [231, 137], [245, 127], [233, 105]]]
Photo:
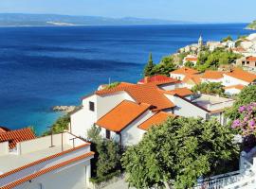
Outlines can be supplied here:
[[241, 116], [233, 121], [231, 128], [239, 130], [243, 136], [256, 135], [256, 102], [241, 106], [238, 112]]

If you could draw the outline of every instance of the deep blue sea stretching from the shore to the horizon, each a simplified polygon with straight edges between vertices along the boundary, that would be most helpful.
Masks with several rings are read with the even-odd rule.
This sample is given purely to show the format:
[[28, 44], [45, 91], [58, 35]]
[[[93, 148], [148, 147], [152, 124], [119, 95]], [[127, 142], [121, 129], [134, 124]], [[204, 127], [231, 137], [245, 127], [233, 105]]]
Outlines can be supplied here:
[[[101, 83], [137, 82], [149, 53], [155, 62], [182, 46], [247, 35], [247, 24], [0, 27], [0, 126], [40, 134]], [[86, 117], [84, 117], [86, 119]]]

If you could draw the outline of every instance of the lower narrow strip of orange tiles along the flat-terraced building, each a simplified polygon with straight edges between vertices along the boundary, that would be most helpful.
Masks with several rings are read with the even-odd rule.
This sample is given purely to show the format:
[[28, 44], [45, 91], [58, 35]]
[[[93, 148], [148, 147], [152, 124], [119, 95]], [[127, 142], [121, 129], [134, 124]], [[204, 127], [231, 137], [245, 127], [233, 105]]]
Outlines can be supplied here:
[[45, 169], [42, 169], [42, 170], [40, 170], [40, 171], [38, 171], [38, 172], [36, 172], [36, 173], [33, 173], [33, 174], [31, 174], [31, 175], [28, 175], [27, 177], [22, 178], [22, 179], [20, 179], [20, 180], [13, 180], [13, 181], [10, 182], [9, 184], [7, 184], [7, 185], [1, 187], [1, 189], [12, 189], [12, 188], [14, 188], [14, 187], [16, 187], [16, 186], [18, 186], [18, 185], [20, 185], [20, 184], [26, 182], [26, 181], [33, 180], [33, 179], [35, 179], [35, 178], [38, 178], [38, 177], [40, 177], [40, 176], [42, 176], [42, 175], [45, 175], [45, 174], [48, 173], [48, 172], [51, 172], [51, 171], [53, 171], [53, 170], [62, 168], [62, 167], [64, 167], [64, 166], [68, 165], [68, 164], [79, 162], [79, 161], [81, 161], [81, 160], [83, 160], [83, 159], [85, 159], [85, 158], [89, 158], [89, 157], [93, 156], [94, 154], [95, 154], [94, 152], [90, 151], [90, 152], [85, 153], [85, 154], [83, 154], [83, 155], [81, 155], [81, 156], [78, 156], [78, 157], [76, 157], [76, 158], [67, 160], [67, 161], [65, 161], [65, 162], [63, 162], [63, 163], [59, 163], [59, 164], [52, 165], [52, 166], [47, 167], [47, 168], [45, 168]]

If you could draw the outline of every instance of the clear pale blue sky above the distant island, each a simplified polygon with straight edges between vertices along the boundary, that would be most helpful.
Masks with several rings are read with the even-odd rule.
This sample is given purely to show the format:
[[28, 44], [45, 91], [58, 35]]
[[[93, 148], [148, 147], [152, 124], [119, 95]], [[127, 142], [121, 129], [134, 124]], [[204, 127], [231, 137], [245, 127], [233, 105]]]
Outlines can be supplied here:
[[0, 12], [250, 22], [256, 0], [0, 0]]

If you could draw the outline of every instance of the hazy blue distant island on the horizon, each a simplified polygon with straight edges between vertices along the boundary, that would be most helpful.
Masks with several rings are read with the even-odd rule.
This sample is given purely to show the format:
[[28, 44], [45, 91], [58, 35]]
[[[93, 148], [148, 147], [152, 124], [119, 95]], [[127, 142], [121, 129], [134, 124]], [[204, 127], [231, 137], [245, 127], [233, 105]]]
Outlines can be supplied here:
[[70, 16], [58, 14], [0, 13], [0, 26], [126, 26], [126, 25], [171, 25], [189, 22], [142, 19], [108, 18], [98, 16]]

